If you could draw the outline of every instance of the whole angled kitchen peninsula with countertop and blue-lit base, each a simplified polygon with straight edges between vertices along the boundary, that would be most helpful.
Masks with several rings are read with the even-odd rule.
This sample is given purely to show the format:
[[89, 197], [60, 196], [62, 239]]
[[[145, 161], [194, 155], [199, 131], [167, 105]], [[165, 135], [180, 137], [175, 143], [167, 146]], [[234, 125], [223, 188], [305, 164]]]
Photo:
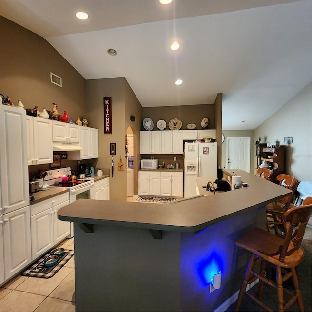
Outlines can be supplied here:
[[[170, 204], [80, 199], [59, 209], [75, 222], [76, 311], [213, 311], [233, 296], [248, 260], [235, 240], [264, 227], [264, 206], [290, 191], [224, 171], [249, 186]], [[222, 278], [210, 292], [212, 272]]]

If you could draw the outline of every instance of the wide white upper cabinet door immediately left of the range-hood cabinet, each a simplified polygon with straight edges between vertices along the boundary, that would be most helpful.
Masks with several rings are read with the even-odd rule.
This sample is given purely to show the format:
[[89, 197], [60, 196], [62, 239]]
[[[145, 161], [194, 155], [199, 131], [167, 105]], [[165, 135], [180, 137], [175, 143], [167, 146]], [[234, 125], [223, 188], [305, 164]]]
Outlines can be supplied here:
[[53, 162], [52, 120], [34, 117], [34, 158], [36, 165]]

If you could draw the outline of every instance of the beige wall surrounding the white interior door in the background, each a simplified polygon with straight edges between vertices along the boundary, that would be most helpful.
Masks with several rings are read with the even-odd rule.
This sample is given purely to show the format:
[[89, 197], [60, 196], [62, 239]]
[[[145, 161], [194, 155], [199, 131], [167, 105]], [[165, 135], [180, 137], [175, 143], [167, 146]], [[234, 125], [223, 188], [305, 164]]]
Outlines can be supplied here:
[[250, 173], [254, 173], [254, 155], [255, 155], [255, 140], [254, 130], [224, 130], [224, 142], [222, 143], [222, 168], [227, 168], [227, 155], [226, 155], [226, 138], [227, 137], [250, 137]]

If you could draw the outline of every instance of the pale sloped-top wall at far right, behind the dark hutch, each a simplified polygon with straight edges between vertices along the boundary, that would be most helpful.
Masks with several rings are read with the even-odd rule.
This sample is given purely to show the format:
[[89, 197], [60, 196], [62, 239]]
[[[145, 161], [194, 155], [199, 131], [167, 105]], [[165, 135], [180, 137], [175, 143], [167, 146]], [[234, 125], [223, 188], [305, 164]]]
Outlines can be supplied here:
[[312, 181], [311, 91], [310, 83], [254, 131], [255, 138], [262, 137], [261, 143], [271, 145], [276, 139], [284, 145], [284, 137], [293, 137], [285, 148], [285, 171], [299, 181]]

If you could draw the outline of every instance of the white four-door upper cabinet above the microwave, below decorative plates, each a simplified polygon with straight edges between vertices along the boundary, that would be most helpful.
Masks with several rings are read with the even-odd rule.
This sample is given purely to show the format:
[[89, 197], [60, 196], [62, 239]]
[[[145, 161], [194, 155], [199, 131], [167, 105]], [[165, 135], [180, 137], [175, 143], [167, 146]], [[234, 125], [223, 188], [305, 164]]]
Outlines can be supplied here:
[[183, 154], [182, 130], [141, 131], [141, 154]]

